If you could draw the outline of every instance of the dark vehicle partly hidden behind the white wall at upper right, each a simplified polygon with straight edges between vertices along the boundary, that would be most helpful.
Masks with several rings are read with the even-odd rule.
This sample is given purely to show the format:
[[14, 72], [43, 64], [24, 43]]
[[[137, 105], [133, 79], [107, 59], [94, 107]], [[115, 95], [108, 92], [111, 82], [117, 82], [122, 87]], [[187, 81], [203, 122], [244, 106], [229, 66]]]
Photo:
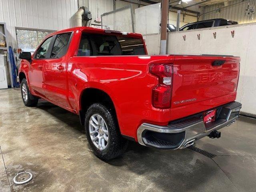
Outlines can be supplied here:
[[226, 26], [226, 25], [236, 25], [236, 24], [238, 24], [238, 22], [226, 20], [226, 19], [209, 19], [209, 20], [198, 21], [198, 22], [186, 24], [180, 28], [180, 31]]

